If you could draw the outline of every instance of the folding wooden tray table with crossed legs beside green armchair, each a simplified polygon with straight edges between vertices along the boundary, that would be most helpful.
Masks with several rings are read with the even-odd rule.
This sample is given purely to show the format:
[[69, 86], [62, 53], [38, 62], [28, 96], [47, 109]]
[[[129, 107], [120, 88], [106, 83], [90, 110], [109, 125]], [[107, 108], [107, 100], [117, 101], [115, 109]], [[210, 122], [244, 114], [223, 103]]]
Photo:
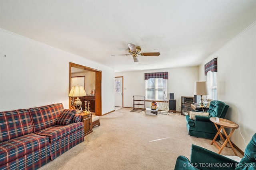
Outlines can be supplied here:
[[[234, 149], [231, 141], [230, 141], [230, 137], [232, 136], [233, 132], [235, 131], [235, 129], [237, 129], [239, 126], [238, 124], [230, 121], [230, 120], [227, 120], [227, 119], [223, 119], [223, 118], [219, 118], [219, 122], [216, 122], [216, 117], [211, 117], [210, 118], [210, 121], [212, 121], [216, 127], [216, 129], [218, 130], [218, 132], [216, 133], [214, 139], [212, 140], [212, 144], [216, 145], [216, 147], [219, 149], [219, 152], [218, 154], [220, 154], [220, 152], [224, 149], [225, 146], [227, 146], [226, 144], [229, 143], [233, 152], [235, 153], [235, 155], [237, 156], [236, 154], [236, 150]], [[218, 126], [220, 126], [220, 128], [218, 128]], [[224, 128], [230, 128], [232, 129], [231, 132], [229, 133], [229, 135], [226, 133], [225, 129]], [[226, 136], [226, 140], [224, 141], [224, 138], [222, 136], [222, 133], [220, 133], [220, 130], [222, 129], [224, 135]], [[223, 145], [220, 147], [218, 145], [218, 143], [216, 143], [215, 139], [217, 138], [217, 136], [220, 135], [221, 139], [224, 141]]]

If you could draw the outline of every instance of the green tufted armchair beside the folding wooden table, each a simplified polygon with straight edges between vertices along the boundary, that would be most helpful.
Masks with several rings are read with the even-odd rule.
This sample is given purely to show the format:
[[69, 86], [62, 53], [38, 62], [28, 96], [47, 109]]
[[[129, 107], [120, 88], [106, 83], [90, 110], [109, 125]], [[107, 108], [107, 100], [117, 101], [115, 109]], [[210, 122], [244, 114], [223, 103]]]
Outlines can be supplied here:
[[[217, 133], [217, 129], [214, 123], [210, 121], [210, 117], [224, 118], [228, 107], [229, 106], [224, 102], [213, 100], [209, 106], [209, 116], [196, 115], [195, 120], [192, 120], [190, 119], [189, 115], [186, 115], [188, 134], [195, 137], [213, 139]], [[220, 137], [218, 136], [216, 140], [220, 140]]]

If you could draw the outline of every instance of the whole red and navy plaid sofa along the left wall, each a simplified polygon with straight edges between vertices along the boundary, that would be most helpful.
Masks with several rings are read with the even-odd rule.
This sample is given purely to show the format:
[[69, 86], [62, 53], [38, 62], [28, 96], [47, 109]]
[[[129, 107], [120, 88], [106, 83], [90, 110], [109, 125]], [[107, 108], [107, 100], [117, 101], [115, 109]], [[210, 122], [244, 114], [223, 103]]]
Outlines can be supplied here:
[[38, 169], [84, 141], [84, 123], [61, 103], [0, 112], [0, 169]]

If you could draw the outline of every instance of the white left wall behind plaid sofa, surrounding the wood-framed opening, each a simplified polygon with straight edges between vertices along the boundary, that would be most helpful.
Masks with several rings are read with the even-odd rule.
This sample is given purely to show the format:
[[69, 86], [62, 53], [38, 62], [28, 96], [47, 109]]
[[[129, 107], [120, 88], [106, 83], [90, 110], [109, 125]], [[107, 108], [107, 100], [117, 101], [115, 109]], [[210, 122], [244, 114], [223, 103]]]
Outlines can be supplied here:
[[0, 29], [0, 111], [58, 102], [68, 108], [70, 62], [108, 76], [102, 76], [102, 114], [113, 111], [114, 69]]

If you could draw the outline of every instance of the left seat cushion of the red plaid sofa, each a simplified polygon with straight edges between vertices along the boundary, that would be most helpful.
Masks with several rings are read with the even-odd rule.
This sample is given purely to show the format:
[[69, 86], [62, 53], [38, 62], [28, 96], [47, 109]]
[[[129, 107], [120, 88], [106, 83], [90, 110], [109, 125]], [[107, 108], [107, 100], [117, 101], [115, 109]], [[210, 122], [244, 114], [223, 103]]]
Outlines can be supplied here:
[[47, 137], [30, 133], [0, 143], [0, 165], [49, 145]]

